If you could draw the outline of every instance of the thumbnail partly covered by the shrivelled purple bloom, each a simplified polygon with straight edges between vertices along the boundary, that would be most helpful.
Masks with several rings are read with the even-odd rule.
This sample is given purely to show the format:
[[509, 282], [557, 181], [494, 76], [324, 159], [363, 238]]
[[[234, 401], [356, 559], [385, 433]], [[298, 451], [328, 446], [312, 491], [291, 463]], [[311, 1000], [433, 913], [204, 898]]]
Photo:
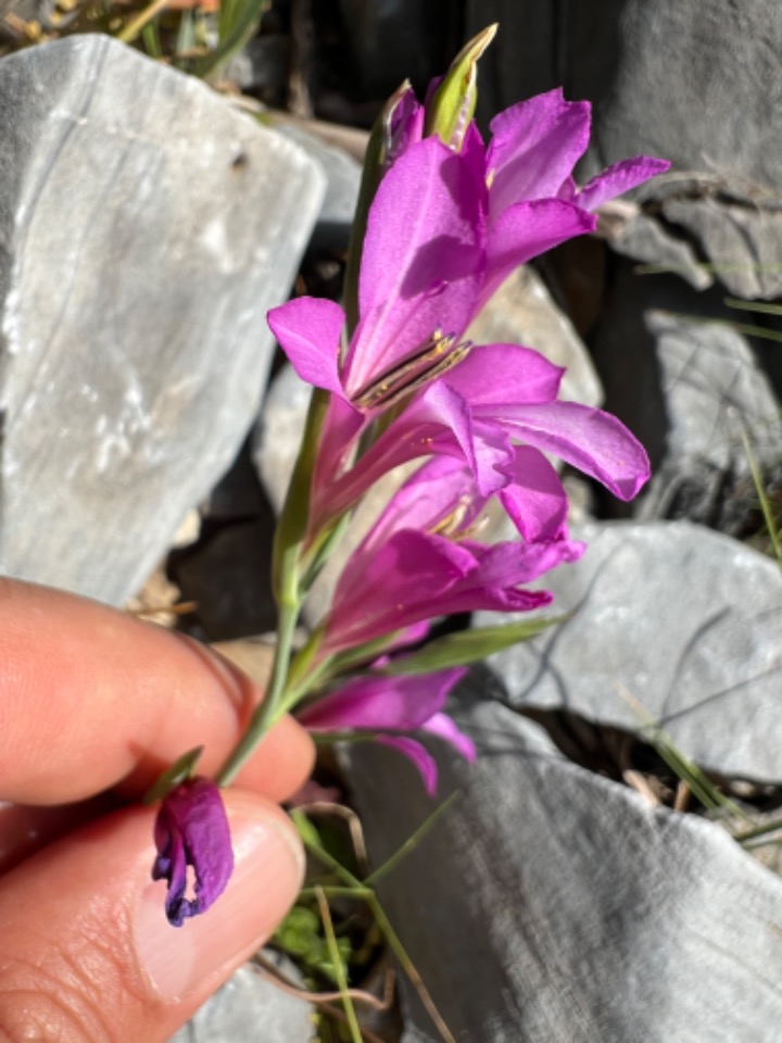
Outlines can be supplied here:
[[254, 814], [229, 813], [235, 869], [206, 913], [172, 927], [165, 882], [149, 883], [141, 893], [136, 951], [161, 1000], [181, 1000], [226, 978], [272, 934], [299, 892], [304, 859], [292, 830], [272, 810], [264, 817], [256, 802], [250, 807]]

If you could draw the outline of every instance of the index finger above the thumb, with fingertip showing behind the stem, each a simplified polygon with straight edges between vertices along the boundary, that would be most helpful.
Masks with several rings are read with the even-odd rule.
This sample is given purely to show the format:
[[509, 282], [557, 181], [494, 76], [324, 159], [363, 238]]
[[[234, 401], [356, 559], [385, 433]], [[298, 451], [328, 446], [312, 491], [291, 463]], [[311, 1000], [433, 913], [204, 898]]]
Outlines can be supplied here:
[[[212, 775], [263, 693], [194, 641], [97, 602], [0, 580], [0, 800], [64, 804], [122, 783], [142, 792], [203, 745]], [[310, 738], [290, 718], [238, 778], [273, 800], [312, 769]]]

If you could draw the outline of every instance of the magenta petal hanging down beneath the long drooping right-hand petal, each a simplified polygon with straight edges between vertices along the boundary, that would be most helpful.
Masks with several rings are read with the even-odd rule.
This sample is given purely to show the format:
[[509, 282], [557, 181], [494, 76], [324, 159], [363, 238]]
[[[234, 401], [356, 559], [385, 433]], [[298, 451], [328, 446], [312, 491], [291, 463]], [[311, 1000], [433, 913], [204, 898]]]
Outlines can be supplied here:
[[517, 445], [513, 465], [504, 470], [512, 481], [497, 497], [524, 539], [562, 539], [566, 532], [567, 493], [545, 456], [531, 445]]

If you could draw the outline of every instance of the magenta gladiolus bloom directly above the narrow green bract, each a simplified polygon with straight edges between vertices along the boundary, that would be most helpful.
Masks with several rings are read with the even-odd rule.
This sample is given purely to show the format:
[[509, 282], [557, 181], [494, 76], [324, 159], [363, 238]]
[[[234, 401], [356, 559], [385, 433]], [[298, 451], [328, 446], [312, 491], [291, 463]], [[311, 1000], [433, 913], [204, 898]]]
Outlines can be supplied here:
[[514, 452], [502, 497], [528, 541], [472, 540], [487, 497], [468, 468], [434, 457], [392, 498], [345, 563], [324, 624], [321, 655], [434, 616], [527, 612], [551, 602], [547, 591], [521, 585], [576, 561], [584, 546], [565, 538], [565, 492], [551, 465], [527, 447]]

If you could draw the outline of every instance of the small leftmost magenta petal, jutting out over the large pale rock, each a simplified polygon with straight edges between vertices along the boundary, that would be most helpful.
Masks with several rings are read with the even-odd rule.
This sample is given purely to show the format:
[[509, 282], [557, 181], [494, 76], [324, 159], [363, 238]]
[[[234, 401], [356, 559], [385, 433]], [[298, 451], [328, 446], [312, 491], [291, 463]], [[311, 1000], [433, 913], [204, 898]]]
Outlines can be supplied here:
[[273, 307], [266, 318], [302, 380], [343, 398], [339, 347], [344, 312], [339, 304], [299, 297]]

